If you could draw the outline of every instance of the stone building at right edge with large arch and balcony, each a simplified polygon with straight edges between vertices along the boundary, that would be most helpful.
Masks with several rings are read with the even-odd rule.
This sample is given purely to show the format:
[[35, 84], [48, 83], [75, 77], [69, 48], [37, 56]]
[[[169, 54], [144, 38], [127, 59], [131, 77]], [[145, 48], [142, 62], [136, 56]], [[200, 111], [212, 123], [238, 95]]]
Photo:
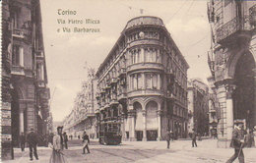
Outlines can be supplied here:
[[218, 144], [229, 147], [235, 120], [245, 128], [256, 125], [256, 2], [211, 0], [208, 15], [209, 66], [221, 112]]

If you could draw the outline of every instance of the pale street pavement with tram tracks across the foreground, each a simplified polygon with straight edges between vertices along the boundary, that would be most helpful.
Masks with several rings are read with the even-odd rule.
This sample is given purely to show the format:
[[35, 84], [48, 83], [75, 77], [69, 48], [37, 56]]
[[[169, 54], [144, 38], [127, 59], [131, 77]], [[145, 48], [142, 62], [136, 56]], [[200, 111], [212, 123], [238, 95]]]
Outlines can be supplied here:
[[[190, 140], [175, 140], [170, 143], [170, 149], [166, 149], [165, 141], [124, 141], [117, 146], [100, 145], [96, 140], [90, 144], [91, 153], [82, 154], [81, 140], [69, 141], [69, 149], [64, 154], [69, 163], [76, 162], [172, 162], [172, 163], [224, 163], [232, 154], [233, 149], [217, 148], [216, 139], [198, 141], [198, 147], [191, 147]], [[29, 148], [25, 152], [15, 148], [15, 159], [3, 161], [5, 163], [49, 161], [51, 149], [38, 147], [39, 160], [30, 161]], [[245, 162], [256, 162], [256, 148], [245, 148]], [[238, 163], [238, 160], [234, 161]]]

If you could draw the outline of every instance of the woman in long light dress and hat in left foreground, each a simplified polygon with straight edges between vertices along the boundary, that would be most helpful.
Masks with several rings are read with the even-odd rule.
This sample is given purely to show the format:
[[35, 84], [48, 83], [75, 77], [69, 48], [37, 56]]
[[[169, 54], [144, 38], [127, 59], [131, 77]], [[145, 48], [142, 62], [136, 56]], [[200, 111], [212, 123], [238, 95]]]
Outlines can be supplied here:
[[63, 142], [64, 138], [62, 136], [62, 128], [57, 128], [57, 135], [53, 136], [52, 139], [52, 154], [50, 157], [49, 163], [66, 163], [66, 158], [64, 157], [63, 153]]

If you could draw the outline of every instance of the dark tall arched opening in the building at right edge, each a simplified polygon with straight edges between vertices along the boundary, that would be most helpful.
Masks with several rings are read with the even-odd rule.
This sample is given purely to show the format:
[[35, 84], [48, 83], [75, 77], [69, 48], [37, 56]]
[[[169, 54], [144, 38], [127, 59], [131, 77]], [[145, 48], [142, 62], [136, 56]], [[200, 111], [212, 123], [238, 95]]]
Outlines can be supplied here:
[[246, 128], [256, 126], [255, 105], [255, 60], [250, 53], [242, 55], [236, 64], [232, 94], [234, 120], [246, 121]]

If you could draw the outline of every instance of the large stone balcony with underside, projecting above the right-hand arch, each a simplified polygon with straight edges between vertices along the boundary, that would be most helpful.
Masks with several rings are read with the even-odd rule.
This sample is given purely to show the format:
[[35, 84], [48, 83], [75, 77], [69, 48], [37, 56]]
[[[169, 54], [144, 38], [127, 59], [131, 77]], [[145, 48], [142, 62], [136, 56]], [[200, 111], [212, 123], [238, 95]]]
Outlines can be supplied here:
[[236, 17], [216, 30], [217, 43], [230, 43], [236, 41], [237, 37], [248, 37], [250, 39], [251, 35], [247, 33], [250, 30], [248, 16], [244, 16], [242, 19]]

